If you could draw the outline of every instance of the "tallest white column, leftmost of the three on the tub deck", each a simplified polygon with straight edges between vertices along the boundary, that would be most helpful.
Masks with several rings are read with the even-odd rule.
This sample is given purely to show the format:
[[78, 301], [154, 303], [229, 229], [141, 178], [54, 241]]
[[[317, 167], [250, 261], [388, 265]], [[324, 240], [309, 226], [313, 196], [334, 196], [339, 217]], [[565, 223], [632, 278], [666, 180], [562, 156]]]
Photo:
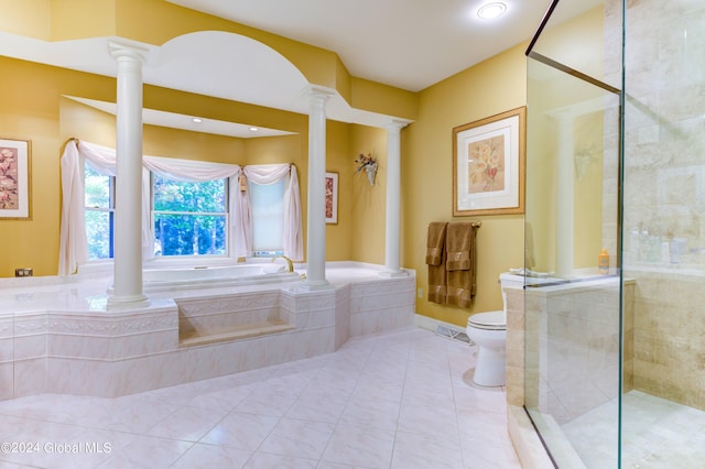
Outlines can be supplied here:
[[118, 63], [113, 290], [108, 306], [147, 303], [142, 293], [142, 65], [147, 50], [110, 41]]

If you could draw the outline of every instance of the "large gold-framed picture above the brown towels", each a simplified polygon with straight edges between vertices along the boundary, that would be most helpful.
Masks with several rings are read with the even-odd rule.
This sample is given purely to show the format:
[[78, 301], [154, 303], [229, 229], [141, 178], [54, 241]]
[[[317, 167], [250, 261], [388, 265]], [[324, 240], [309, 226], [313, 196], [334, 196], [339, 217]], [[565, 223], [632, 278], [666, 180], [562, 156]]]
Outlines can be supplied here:
[[453, 129], [453, 216], [524, 212], [527, 109]]

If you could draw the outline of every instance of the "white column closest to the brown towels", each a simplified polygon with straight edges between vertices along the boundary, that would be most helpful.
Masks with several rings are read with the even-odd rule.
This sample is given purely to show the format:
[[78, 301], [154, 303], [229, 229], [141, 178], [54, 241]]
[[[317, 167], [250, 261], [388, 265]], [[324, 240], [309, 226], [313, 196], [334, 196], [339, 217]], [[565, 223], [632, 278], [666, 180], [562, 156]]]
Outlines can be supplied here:
[[387, 214], [384, 230], [384, 270], [381, 276], [409, 275], [400, 265], [401, 129], [408, 122], [392, 120], [387, 127]]

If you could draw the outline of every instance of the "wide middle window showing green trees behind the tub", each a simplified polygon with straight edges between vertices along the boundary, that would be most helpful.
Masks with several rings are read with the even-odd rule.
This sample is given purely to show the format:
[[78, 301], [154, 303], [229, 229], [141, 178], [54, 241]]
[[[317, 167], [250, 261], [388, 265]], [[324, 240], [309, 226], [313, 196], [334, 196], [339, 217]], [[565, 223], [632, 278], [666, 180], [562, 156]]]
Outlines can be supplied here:
[[154, 255], [227, 253], [227, 181], [153, 176]]

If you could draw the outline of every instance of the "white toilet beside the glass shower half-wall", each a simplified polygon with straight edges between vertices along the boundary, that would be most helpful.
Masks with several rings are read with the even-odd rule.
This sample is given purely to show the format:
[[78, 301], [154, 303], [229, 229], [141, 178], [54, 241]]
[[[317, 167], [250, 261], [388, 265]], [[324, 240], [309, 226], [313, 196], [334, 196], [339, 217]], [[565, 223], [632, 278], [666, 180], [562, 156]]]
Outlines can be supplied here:
[[466, 334], [477, 345], [477, 364], [473, 382], [480, 386], [503, 386], [507, 383], [507, 293], [505, 287], [523, 288], [524, 277], [511, 273], [499, 275], [502, 309], [478, 313], [467, 319]]

